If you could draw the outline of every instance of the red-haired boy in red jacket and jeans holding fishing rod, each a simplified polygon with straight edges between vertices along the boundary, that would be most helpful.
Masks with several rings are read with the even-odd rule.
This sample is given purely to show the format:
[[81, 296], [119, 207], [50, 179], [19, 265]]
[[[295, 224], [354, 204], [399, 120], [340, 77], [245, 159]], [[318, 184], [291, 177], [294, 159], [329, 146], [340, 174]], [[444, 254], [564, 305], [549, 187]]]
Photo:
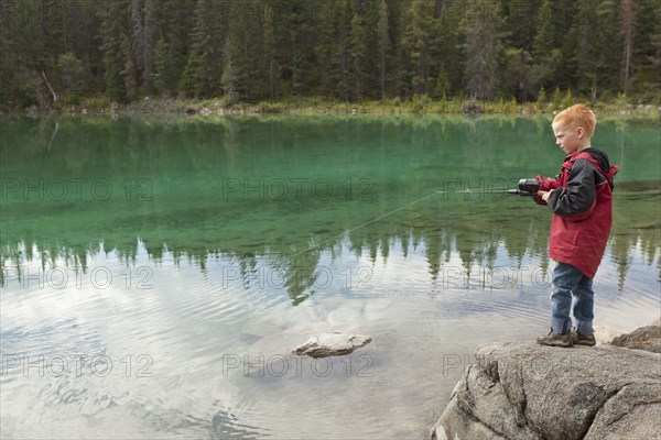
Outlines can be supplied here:
[[[595, 114], [585, 106], [557, 113], [555, 143], [567, 154], [556, 178], [538, 176], [535, 201], [553, 211], [549, 255], [553, 270], [551, 331], [542, 345], [594, 345], [593, 278], [604, 256], [613, 223], [613, 177], [619, 170], [608, 156], [592, 147]], [[573, 302], [573, 304], [572, 304]], [[576, 320], [571, 331], [570, 310]]]

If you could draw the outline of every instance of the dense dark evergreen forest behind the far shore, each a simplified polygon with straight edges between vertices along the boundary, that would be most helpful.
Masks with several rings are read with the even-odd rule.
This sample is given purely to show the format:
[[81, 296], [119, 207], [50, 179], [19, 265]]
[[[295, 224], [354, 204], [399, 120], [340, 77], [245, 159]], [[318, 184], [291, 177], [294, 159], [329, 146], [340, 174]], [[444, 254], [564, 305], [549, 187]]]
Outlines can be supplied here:
[[659, 103], [658, 0], [1, 0], [0, 106]]

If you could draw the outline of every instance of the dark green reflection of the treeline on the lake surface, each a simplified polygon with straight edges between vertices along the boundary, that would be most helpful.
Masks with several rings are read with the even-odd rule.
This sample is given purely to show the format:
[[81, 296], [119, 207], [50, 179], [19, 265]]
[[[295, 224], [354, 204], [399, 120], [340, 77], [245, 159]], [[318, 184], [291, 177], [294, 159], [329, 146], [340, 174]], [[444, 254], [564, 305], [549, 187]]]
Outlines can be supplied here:
[[[150, 261], [167, 255], [176, 265], [195, 264], [205, 273], [214, 258], [231, 258], [246, 282], [254, 277], [258, 262], [267, 262], [297, 305], [315, 293], [322, 255], [335, 258], [345, 240], [351, 253], [368, 255], [372, 264], [388, 261], [394, 243], [404, 258], [409, 249], [424, 248], [432, 282], [453, 257], [468, 278], [475, 265], [492, 271], [502, 253], [513, 267], [533, 258], [544, 274], [549, 270], [545, 208], [499, 195], [427, 197], [440, 188], [441, 176], [462, 185], [467, 176], [470, 185], [485, 182], [495, 168], [505, 176], [531, 169], [552, 174], [559, 157], [546, 157], [539, 147], [552, 142], [544, 131], [548, 121], [91, 118], [58, 123], [55, 138], [43, 121], [8, 125], [3, 179], [104, 179], [113, 194], [107, 200], [87, 196], [63, 202], [3, 193], [0, 258], [19, 277], [24, 262], [37, 257], [44, 268], [64, 264], [85, 272], [97, 255], [113, 252], [136, 265], [143, 246]], [[626, 125], [616, 130], [624, 160]], [[371, 143], [376, 154], [365, 146]], [[507, 147], [513, 143], [532, 146]], [[327, 150], [330, 156], [324, 155]], [[323, 158], [297, 163], [310, 154]], [[611, 160], [618, 163], [618, 153]], [[640, 173], [658, 170], [649, 157], [635, 160], [628, 157], [628, 164]], [[272, 164], [277, 172], [269, 170]], [[282, 174], [290, 168], [295, 172]], [[139, 199], [148, 188], [137, 180], [143, 176], [151, 199]], [[373, 188], [360, 186], [355, 176]], [[299, 186], [292, 184], [288, 197], [279, 199], [283, 193], [270, 194], [273, 188], [261, 184], [269, 177]], [[333, 188], [328, 197], [301, 186], [315, 179]], [[247, 180], [248, 193], [237, 189]], [[609, 254], [620, 290], [636, 253], [650, 265], [660, 260], [660, 194], [658, 179], [616, 180]], [[6, 271], [0, 277], [4, 284]]]

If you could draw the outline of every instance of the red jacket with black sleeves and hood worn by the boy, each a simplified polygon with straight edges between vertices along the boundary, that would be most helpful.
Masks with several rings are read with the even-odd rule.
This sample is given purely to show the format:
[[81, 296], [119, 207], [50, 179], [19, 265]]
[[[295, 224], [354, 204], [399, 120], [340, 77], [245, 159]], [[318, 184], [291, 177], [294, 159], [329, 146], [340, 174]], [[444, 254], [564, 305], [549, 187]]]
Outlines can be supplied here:
[[549, 255], [594, 278], [613, 224], [613, 177], [619, 170], [595, 148], [565, 157], [556, 178], [538, 176], [540, 189], [551, 191], [553, 211]]

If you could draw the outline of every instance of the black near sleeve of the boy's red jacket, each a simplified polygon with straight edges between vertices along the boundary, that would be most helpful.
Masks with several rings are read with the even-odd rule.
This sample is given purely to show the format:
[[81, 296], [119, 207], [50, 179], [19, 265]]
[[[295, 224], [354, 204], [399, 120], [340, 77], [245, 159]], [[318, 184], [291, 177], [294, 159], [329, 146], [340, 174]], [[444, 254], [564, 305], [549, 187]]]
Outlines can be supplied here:
[[595, 167], [589, 161], [579, 158], [572, 166], [567, 186], [552, 190], [548, 205], [553, 213], [581, 221], [594, 210], [596, 195]]

